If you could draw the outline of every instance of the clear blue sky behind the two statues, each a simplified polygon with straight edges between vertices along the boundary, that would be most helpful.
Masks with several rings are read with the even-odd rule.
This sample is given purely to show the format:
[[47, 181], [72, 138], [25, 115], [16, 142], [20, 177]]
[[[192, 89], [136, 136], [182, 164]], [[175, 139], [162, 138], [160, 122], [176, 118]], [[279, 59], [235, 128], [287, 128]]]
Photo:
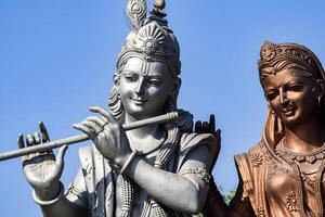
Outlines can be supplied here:
[[[52, 139], [78, 133], [72, 125], [106, 106], [120, 46], [129, 33], [121, 0], [0, 1], [0, 152], [18, 132], [43, 120]], [[151, 5], [151, 3], [150, 3]], [[222, 151], [213, 175], [225, 191], [237, 184], [234, 154], [261, 138], [265, 101], [257, 60], [264, 40], [298, 42], [325, 61], [325, 3], [309, 0], [167, 0], [181, 44], [179, 107], [195, 119], [216, 114]], [[79, 166], [66, 154], [63, 182]], [[0, 163], [1, 216], [41, 216], [20, 159]]]

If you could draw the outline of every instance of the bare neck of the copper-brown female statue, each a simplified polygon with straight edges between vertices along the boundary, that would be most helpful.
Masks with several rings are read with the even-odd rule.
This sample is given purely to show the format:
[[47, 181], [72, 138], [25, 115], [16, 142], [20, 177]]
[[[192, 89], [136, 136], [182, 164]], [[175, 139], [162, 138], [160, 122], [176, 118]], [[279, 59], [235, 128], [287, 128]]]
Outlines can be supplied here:
[[292, 152], [308, 153], [325, 142], [325, 130], [318, 118], [309, 118], [295, 126], [285, 126], [285, 146]]

